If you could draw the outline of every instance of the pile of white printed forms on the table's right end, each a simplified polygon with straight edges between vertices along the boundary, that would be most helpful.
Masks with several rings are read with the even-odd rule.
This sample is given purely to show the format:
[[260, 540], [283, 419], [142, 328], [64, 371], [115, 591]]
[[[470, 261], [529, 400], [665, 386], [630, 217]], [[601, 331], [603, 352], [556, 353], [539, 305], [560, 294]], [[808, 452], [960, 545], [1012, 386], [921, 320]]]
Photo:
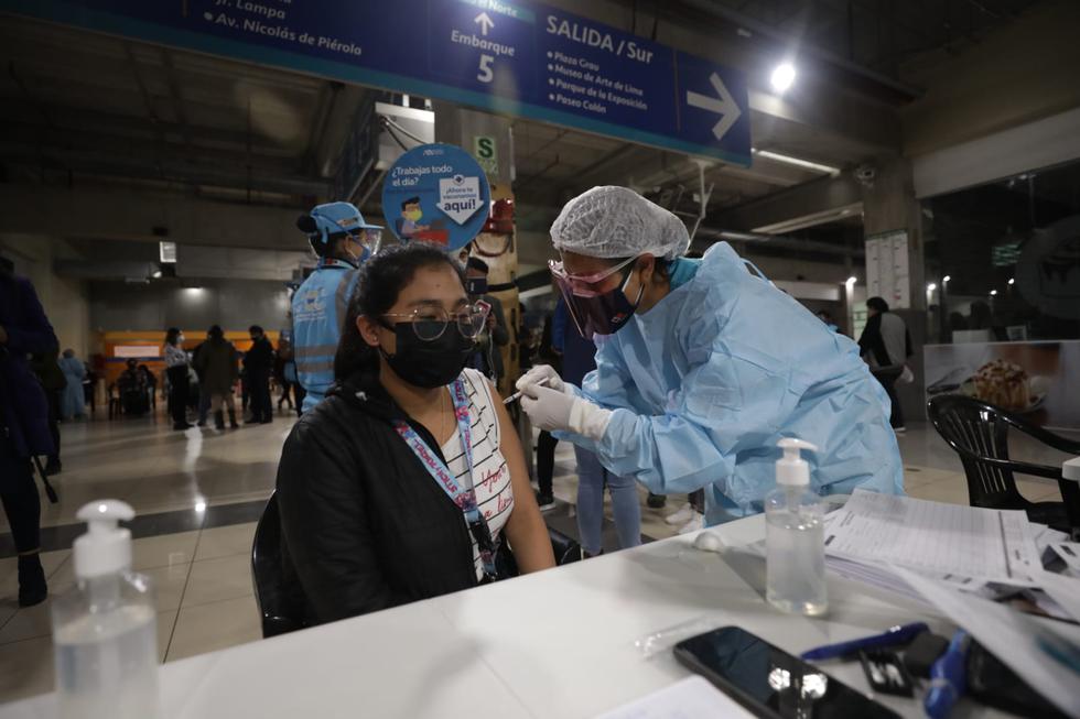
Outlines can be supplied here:
[[1080, 628], [987, 601], [1020, 593], [1051, 617], [1080, 620], [1080, 580], [1043, 568], [1043, 552], [1058, 551], [1061, 540], [1022, 511], [858, 490], [825, 518], [831, 570], [932, 604], [1080, 717]]

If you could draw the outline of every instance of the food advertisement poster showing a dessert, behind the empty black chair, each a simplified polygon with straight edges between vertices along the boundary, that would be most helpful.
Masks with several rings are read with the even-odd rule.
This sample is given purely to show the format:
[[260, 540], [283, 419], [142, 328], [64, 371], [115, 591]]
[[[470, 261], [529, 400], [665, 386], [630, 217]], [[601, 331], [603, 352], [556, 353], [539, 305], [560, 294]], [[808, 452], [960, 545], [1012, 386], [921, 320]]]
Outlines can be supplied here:
[[1080, 429], [1080, 341], [922, 348], [927, 400], [964, 394], [1050, 429]]

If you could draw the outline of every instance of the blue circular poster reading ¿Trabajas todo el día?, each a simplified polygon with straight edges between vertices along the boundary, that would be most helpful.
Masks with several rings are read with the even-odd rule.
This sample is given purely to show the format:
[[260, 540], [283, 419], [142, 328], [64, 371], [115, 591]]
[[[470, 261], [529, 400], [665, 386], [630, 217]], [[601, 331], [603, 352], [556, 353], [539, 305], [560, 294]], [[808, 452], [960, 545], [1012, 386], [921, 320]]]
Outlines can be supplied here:
[[492, 190], [461, 148], [420, 145], [398, 157], [382, 183], [382, 215], [402, 242], [424, 240], [458, 250], [479, 235]]

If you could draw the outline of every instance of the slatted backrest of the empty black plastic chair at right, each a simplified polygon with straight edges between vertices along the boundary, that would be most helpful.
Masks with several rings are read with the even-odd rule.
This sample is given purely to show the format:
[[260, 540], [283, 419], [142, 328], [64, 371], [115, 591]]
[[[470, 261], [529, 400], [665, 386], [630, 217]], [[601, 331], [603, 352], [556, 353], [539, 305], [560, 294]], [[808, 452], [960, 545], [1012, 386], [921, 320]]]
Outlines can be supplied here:
[[993, 405], [960, 394], [930, 400], [930, 422], [960, 455], [968, 476], [972, 506], [1024, 509], [1027, 501], [1016, 489], [1012, 469], [981, 461], [1008, 459], [1008, 425]]

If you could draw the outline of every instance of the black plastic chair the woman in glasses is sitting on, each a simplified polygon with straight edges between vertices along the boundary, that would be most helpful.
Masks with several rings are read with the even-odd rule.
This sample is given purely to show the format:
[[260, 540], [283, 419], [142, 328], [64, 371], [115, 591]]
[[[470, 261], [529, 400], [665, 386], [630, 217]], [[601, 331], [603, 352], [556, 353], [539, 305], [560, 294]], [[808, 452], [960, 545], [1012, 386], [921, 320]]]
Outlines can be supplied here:
[[[548, 529], [555, 564], [562, 566], [581, 559], [581, 545], [565, 534]], [[255, 602], [262, 615], [262, 636], [270, 639], [287, 632], [303, 629], [304, 600], [296, 582], [284, 577], [281, 559], [281, 518], [278, 511], [278, 495], [273, 493], [262, 510], [262, 516], [255, 527], [251, 543], [251, 582], [255, 585]], [[498, 566], [503, 576], [518, 574], [514, 554], [504, 542], [500, 545]]]

